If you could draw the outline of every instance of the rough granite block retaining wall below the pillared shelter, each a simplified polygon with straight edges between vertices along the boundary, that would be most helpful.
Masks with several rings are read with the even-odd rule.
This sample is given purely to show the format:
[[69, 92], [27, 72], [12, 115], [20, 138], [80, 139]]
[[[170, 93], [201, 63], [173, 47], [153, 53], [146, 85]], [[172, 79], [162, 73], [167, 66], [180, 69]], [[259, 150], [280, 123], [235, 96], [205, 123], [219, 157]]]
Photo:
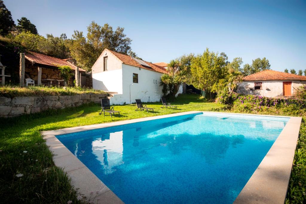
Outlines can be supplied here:
[[47, 109], [75, 107], [89, 102], [100, 103], [101, 100], [99, 97], [106, 98], [107, 96], [108, 94], [14, 98], [0, 97], [0, 117], [39, 113]]

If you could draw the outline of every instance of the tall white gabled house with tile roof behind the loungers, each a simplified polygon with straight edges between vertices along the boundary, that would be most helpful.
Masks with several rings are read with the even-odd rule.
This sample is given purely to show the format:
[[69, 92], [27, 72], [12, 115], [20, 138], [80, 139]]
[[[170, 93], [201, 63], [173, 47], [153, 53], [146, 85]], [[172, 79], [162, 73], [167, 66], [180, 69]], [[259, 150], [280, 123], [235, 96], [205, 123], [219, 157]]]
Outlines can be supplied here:
[[162, 97], [160, 77], [165, 73], [164, 67], [105, 49], [92, 66], [92, 87], [114, 92], [111, 104], [129, 104], [135, 99], [157, 102]]

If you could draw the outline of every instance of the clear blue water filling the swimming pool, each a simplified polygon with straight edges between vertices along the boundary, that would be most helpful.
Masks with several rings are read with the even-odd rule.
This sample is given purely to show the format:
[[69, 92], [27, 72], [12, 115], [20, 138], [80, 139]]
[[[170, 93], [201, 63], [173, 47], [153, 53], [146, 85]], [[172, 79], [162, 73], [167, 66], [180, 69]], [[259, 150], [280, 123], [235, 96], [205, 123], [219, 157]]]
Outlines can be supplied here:
[[200, 113], [57, 137], [125, 203], [232, 203], [288, 120]]

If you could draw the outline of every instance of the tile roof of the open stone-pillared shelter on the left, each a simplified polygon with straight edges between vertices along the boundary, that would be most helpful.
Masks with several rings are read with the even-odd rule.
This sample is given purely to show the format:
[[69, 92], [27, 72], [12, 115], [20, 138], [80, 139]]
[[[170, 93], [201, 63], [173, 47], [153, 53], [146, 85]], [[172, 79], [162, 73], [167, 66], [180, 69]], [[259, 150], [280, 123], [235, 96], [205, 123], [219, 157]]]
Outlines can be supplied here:
[[[33, 63], [42, 64], [42, 65], [49, 65], [53, 67], [59, 66], [69, 66], [71, 69], [76, 69], [76, 65], [71, 64], [69, 61], [59, 59], [56, 57], [50, 57], [44, 54], [39, 54], [35, 52], [27, 51], [25, 53], [25, 58]], [[79, 68], [79, 71], [85, 72], [84, 69]]]

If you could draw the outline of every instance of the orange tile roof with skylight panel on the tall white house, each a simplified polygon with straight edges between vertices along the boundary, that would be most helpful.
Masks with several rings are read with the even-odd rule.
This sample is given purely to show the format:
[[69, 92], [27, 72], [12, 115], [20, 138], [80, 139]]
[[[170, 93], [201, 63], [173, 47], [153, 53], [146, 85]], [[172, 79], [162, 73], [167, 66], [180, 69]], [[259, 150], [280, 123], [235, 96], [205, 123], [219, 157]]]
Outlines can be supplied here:
[[[108, 50], [108, 49], [106, 49], [106, 50]], [[146, 67], [144, 65], [140, 65], [138, 62], [133, 60], [132, 57], [129, 56], [129, 55], [121, 54], [121, 53], [114, 52], [114, 51], [111, 51], [111, 50], [108, 50], [108, 51], [110, 51], [112, 54], [114, 54], [116, 57], [118, 57], [118, 59], [121, 60], [126, 65], [132, 65], [132, 66], [135, 66], [135, 67], [140, 67], [140, 68], [152, 70], [152, 71], [155, 71], [155, 72], [161, 72], [161, 73], [166, 73], [166, 74], [168, 73], [167, 69], [165, 69], [161, 66], [155, 65], [151, 62], [147, 62], [147, 61], [143, 60], [145, 63], [147, 63], [147, 65], [150, 66], [150, 67]]]

